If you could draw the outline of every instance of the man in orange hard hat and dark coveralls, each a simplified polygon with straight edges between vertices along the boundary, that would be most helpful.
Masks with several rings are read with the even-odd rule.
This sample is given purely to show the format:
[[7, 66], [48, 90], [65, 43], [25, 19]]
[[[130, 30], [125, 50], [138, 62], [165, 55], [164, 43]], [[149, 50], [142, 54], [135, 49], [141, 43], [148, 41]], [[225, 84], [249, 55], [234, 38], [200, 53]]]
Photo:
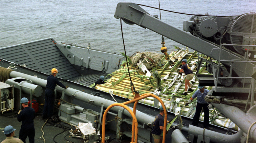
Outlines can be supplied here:
[[52, 75], [47, 77], [46, 90], [45, 90], [45, 101], [43, 109], [43, 119], [51, 118], [53, 116], [53, 105], [54, 105], [54, 89], [56, 85], [67, 89], [68, 86], [64, 86], [59, 80], [55, 77], [58, 73], [58, 70], [53, 68]]

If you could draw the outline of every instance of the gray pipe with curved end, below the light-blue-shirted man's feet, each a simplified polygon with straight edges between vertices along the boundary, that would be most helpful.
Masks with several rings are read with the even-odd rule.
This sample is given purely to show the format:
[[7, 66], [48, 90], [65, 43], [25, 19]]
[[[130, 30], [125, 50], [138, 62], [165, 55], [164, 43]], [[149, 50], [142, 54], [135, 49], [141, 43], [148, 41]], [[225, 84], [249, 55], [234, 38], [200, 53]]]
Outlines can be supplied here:
[[[189, 125], [188, 135], [189, 134], [193, 134], [196, 137], [198, 137], [198, 135], [203, 135], [203, 128]], [[211, 138], [211, 142], [214, 143], [240, 143], [240, 137], [242, 134], [242, 130], [234, 135], [225, 135], [211, 130], [204, 130], [204, 136]]]

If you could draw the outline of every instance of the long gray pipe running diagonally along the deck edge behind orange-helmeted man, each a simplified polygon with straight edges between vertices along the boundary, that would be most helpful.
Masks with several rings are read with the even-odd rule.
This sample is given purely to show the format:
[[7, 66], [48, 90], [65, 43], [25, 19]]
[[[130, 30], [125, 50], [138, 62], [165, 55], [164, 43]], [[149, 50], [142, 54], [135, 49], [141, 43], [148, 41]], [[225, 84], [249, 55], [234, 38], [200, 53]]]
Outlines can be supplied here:
[[[35, 76], [31, 76], [31, 75], [24, 74], [24, 73], [17, 72], [17, 71], [11, 71], [10, 77], [11, 78], [22, 77], [22, 78], [25, 78], [25, 79], [29, 79], [33, 82], [33, 84], [46, 88], [46, 82], [47, 81], [44, 80], [44, 79], [35, 77]], [[70, 88], [70, 87], [67, 88], [67, 89], [64, 89], [62, 87], [56, 86], [55, 89], [57, 90], [57, 92], [61, 93], [63, 91], [63, 92], [65, 92], [65, 95], [67, 95], [67, 96], [70, 96], [72, 98], [84, 101], [85, 103], [93, 104], [93, 105], [100, 106], [100, 107], [101, 107], [101, 105], [104, 105], [104, 107], [107, 108], [109, 105], [111, 105], [113, 103], [116, 103], [114, 101], [110, 101], [110, 100], [107, 100], [107, 99], [104, 99], [104, 98], [101, 98], [101, 97], [97, 97], [97, 96], [94, 96], [94, 95], [91, 95], [91, 94], [88, 94], [88, 93], [84, 93], [82, 91], [79, 91], [79, 90], [76, 90], [76, 89], [73, 89], [73, 88]], [[129, 107], [129, 108], [133, 111], [132, 107]], [[127, 110], [125, 110], [124, 108], [122, 108], [120, 106], [112, 107], [111, 110], [113, 110], [113, 111], [120, 110], [126, 116], [132, 117]], [[142, 122], [142, 123], [143, 122], [144, 123], [152, 123], [155, 119], [154, 116], [144, 114], [144, 113], [142, 113], [138, 110], [136, 111], [136, 118], [137, 118], [138, 122]]]

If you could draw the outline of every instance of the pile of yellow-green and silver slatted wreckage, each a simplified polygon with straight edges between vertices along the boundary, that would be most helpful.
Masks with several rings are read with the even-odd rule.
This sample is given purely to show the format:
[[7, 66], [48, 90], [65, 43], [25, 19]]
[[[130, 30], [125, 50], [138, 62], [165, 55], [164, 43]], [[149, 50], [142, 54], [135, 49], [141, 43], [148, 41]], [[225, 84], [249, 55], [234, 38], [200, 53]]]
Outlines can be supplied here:
[[[135, 55], [135, 54], [134, 54]], [[195, 114], [196, 101], [190, 103], [189, 106], [184, 106], [188, 99], [192, 97], [197, 90], [199, 81], [196, 78], [198, 56], [201, 56], [209, 60], [209, 57], [198, 54], [196, 51], [191, 53], [188, 49], [180, 49], [172, 51], [169, 55], [169, 61], [165, 59], [165, 56], [154, 52], [138, 52], [135, 56], [131, 57], [128, 61], [129, 72], [135, 90], [139, 91], [139, 94], [152, 93], [158, 95], [167, 109], [170, 112], [179, 111], [180, 115], [186, 117], [193, 117]], [[194, 78], [190, 81], [192, 92], [181, 95], [185, 88], [186, 75], [179, 75], [181, 69], [181, 60], [187, 59], [187, 64], [194, 73]], [[216, 60], [211, 59], [212, 62], [217, 63]], [[199, 69], [199, 74], [211, 74], [206, 69], [206, 63], [203, 62]], [[107, 75], [112, 76], [105, 84], [97, 85], [96, 88], [105, 92], [111, 92], [111, 95], [117, 95], [128, 99], [134, 99], [134, 95], [130, 87], [130, 78], [126, 63], [123, 66]], [[212, 87], [205, 87], [211, 89]], [[113, 97], [114, 98], [114, 97]], [[140, 100], [139, 102], [145, 103], [151, 106], [160, 106], [158, 100], [148, 97]], [[178, 110], [177, 110], [178, 109]], [[204, 113], [201, 114], [201, 120], [203, 120]], [[217, 109], [210, 109], [210, 122], [212, 124], [227, 128], [229, 125], [233, 126], [233, 130], [238, 130], [237, 126], [225, 118]]]

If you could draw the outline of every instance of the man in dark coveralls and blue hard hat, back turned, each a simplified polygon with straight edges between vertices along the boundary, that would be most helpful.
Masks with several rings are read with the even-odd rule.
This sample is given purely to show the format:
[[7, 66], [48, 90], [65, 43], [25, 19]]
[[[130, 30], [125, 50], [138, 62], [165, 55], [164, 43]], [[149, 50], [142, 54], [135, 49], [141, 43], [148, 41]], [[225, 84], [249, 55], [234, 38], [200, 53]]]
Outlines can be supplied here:
[[26, 138], [29, 137], [29, 142], [35, 142], [35, 127], [34, 127], [34, 119], [35, 119], [35, 110], [28, 105], [28, 99], [23, 97], [20, 100], [20, 103], [23, 110], [18, 112], [17, 119], [18, 121], [22, 121], [22, 125], [20, 128], [19, 138], [26, 143]]

